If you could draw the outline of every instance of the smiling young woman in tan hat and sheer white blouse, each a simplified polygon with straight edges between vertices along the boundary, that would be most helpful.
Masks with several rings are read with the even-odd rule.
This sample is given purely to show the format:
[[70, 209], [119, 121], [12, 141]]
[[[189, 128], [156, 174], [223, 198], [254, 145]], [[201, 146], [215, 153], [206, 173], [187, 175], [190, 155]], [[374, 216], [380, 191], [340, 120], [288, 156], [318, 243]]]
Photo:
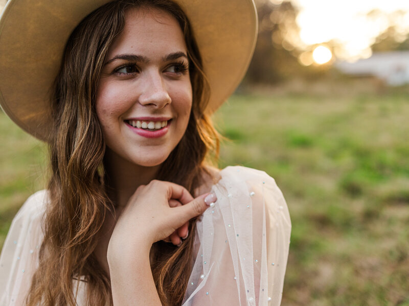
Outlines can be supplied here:
[[9, 1], [0, 102], [49, 142], [52, 175], [13, 220], [2, 305], [280, 304], [280, 190], [206, 162], [209, 114], [240, 82], [256, 24], [251, 0]]

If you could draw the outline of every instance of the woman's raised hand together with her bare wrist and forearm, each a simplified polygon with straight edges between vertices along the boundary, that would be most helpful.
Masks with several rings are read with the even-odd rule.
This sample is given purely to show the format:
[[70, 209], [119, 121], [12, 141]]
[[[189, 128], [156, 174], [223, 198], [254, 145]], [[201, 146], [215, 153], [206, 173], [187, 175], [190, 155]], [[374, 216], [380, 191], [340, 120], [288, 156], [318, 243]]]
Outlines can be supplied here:
[[161, 181], [135, 191], [108, 244], [113, 304], [135, 304], [136, 299], [139, 305], [160, 305], [149, 259], [152, 244], [171, 236], [215, 200], [214, 194], [194, 199], [184, 187]]

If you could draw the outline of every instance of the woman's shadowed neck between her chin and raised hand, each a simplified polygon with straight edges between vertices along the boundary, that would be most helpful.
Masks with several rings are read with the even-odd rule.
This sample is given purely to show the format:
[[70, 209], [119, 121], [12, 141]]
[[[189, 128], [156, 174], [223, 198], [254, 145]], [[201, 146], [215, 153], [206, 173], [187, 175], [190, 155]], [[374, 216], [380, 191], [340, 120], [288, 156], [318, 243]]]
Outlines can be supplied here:
[[141, 185], [154, 180], [160, 165], [144, 167], [135, 165], [108, 147], [104, 156], [107, 194], [118, 207], [124, 207], [131, 195]]

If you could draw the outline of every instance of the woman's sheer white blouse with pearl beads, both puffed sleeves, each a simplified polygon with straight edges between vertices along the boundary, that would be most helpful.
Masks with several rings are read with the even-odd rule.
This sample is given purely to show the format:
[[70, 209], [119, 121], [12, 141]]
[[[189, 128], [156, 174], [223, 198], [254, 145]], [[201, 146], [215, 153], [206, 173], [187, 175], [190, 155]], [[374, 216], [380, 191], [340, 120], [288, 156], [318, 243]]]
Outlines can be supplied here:
[[[212, 187], [217, 202], [197, 222], [197, 257], [183, 306], [278, 306], [291, 232], [283, 195], [263, 171], [234, 166], [220, 175]], [[47, 200], [46, 191], [33, 194], [11, 224], [0, 257], [0, 305], [24, 304]], [[80, 281], [75, 292], [78, 306], [86, 300], [85, 286]]]

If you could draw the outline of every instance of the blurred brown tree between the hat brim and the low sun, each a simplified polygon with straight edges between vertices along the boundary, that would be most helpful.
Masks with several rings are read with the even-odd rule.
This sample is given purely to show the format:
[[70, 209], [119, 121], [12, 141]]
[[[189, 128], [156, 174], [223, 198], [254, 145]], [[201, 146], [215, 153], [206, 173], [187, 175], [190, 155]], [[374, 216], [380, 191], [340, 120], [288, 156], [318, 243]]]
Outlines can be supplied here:
[[274, 84], [300, 72], [299, 54], [293, 41], [299, 38], [297, 10], [290, 2], [258, 0], [259, 35], [246, 74], [248, 84]]

